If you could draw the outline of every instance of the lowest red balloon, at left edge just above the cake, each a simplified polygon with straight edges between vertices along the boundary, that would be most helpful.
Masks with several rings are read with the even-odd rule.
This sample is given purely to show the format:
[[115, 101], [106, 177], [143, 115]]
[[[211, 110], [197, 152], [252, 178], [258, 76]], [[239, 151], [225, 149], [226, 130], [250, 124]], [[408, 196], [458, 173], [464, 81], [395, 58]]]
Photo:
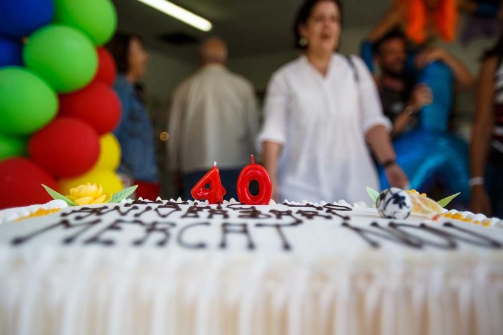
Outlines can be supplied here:
[[51, 196], [41, 184], [57, 189], [54, 178], [27, 158], [15, 157], [0, 161], [0, 209], [51, 201]]

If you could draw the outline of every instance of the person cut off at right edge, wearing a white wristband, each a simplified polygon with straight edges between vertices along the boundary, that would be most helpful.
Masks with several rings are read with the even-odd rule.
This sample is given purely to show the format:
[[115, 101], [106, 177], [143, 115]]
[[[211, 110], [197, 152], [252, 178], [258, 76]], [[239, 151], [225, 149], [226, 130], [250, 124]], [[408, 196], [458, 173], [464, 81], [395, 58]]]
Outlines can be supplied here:
[[502, 59], [503, 35], [483, 56], [470, 146], [471, 210], [496, 217], [503, 217]]

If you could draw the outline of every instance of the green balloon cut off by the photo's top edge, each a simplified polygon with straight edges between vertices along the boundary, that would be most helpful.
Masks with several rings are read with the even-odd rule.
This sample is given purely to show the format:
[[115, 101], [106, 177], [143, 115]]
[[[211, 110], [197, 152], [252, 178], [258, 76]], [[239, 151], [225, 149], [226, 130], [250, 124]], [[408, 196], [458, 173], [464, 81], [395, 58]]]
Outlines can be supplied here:
[[110, 0], [55, 0], [54, 22], [87, 34], [95, 45], [107, 43], [117, 28], [117, 13]]

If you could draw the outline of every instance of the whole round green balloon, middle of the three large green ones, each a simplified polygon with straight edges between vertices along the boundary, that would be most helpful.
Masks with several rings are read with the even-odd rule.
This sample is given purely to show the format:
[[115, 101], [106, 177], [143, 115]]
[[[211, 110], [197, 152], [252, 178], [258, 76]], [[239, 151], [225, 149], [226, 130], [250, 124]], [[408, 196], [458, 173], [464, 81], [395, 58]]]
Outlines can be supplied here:
[[98, 55], [91, 40], [62, 25], [43, 27], [30, 36], [23, 49], [23, 60], [60, 93], [86, 86], [98, 68]]

